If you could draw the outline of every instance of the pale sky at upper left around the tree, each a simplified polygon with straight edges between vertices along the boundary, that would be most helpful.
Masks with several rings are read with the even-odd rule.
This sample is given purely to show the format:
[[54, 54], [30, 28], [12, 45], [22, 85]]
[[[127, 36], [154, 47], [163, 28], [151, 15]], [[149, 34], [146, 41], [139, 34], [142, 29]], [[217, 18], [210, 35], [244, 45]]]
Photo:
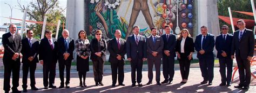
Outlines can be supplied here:
[[[36, 2], [36, 0], [18, 0], [18, 1], [21, 1], [21, 4], [24, 6], [28, 5], [30, 2]], [[58, 0], [58, 1], [59, 1], [59, 6], [62, 7], [62, 9], [65, 9], [67, 0]], [[23, 12], [21, 12], [21, 10], [18, 10], [19, 7], [18, 7], [17, 0], [0, 0], [0, 25], [3, 25], [4, 23], [10, 23], [10, 19], [8, 18], [11, 16], [11, 9], [8, 4], [10, 4], [11, 7], [13, 7], [12, 18], [22, 19], [23, 17]], [[63, 12], [63, 14], [66, 15], [66, 10]], [[2, 17], [8, 17], [8, 18], [2, 18]], [[22, 21], [19, 21], [19, 20], [12, 20], [12, 23], [21, 23], [21, 22]]]

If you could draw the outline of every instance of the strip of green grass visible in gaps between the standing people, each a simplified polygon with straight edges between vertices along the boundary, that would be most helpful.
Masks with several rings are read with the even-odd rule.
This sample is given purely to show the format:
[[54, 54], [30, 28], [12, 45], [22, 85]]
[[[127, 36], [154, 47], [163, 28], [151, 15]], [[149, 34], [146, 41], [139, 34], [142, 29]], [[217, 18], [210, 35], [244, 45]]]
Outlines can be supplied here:
[[[199, 60], [198, 59], [191, 60], [191, 64], [194, 64], [194, 63], [199, 63]], [[215, 59], [214, 63], [219, 63], [219, 60]], [[71, 63], [72, 66], [76, 66], [76, 64], [77, 64], [76, 62]], [[147, 61], [144, 61], [143, 64], [147, 64]], [[179, 61], [175, 60], [174, 64], [179, 64]], [[89, 61], [89, 65], [92, 65], [92, 61]], [[105, 61], [104, 65], [110, 65], [109, 61]], [[130, 61], [125, 61], [125, 65], [130, 65]]]

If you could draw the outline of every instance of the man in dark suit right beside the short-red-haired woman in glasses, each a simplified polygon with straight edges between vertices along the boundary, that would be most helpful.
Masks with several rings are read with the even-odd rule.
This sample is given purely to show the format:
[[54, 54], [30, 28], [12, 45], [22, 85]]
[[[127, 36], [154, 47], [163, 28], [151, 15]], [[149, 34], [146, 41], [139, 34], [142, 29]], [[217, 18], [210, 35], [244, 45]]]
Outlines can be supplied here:
[[125, 86], [124, 81], [124, 55], [126, 53], [126, 41], [121, 38], [122, 34], [119, 29], [114, 33], [115, 38], [109, 42], [107, 49], [110, 52], [109, 62], [111, 63], [112, 71], [112, 87], [117, 83], [117, 69], [118, 69], [118, 85]]

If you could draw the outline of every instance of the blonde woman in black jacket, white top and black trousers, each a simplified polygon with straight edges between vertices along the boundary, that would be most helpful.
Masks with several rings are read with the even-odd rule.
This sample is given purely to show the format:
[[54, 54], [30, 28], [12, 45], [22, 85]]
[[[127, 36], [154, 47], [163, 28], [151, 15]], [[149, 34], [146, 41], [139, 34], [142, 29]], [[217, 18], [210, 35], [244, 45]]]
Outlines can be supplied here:
[[176, 53], [178, 55], [180, 73], [182, 81], [180, 83], [186, 83], [188, 74], [190, 73], [190, 61], [193, 59], [192, 54], [194, 52], [193, 38], [190, 37], [187, 29], [180, 31], [180, 35], [176, 44]]

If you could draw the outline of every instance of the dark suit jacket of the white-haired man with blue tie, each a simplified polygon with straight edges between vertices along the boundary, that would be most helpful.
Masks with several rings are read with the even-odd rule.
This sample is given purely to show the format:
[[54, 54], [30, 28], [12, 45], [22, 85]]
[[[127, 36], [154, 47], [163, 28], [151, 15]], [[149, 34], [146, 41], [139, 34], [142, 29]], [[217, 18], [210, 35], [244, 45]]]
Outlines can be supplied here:
[[[73, 59], [73, 51], [75, 50], [75, 42], [73, 38], [68, 38], [69, 40], [69, 47], [68, 47], [68, 53], [70, 54], [67, 60], [72, 60]], [[63, 60], [64, 56], [63, 54], [66, 52], [65, 50], [65, 43], [64, 43], [64, 38], [59, 37], [57, 41], [58, 45], [58, 58], [59, 60]]]

